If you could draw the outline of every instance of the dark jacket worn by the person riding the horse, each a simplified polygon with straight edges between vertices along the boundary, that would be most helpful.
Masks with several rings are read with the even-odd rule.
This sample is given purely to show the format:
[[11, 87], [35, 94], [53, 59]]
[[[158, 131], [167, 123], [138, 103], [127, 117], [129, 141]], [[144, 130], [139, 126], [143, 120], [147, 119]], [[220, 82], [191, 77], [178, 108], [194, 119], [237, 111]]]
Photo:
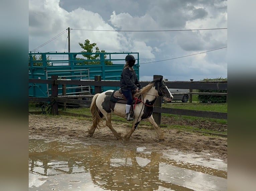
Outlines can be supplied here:
[[134, 70], [132, 70], [130, 67], [125, 67], [122, 71], [121, 79], [120, 79], [120, 88], [121, 89], [129, 88], [131, 90], [142, 88]]

